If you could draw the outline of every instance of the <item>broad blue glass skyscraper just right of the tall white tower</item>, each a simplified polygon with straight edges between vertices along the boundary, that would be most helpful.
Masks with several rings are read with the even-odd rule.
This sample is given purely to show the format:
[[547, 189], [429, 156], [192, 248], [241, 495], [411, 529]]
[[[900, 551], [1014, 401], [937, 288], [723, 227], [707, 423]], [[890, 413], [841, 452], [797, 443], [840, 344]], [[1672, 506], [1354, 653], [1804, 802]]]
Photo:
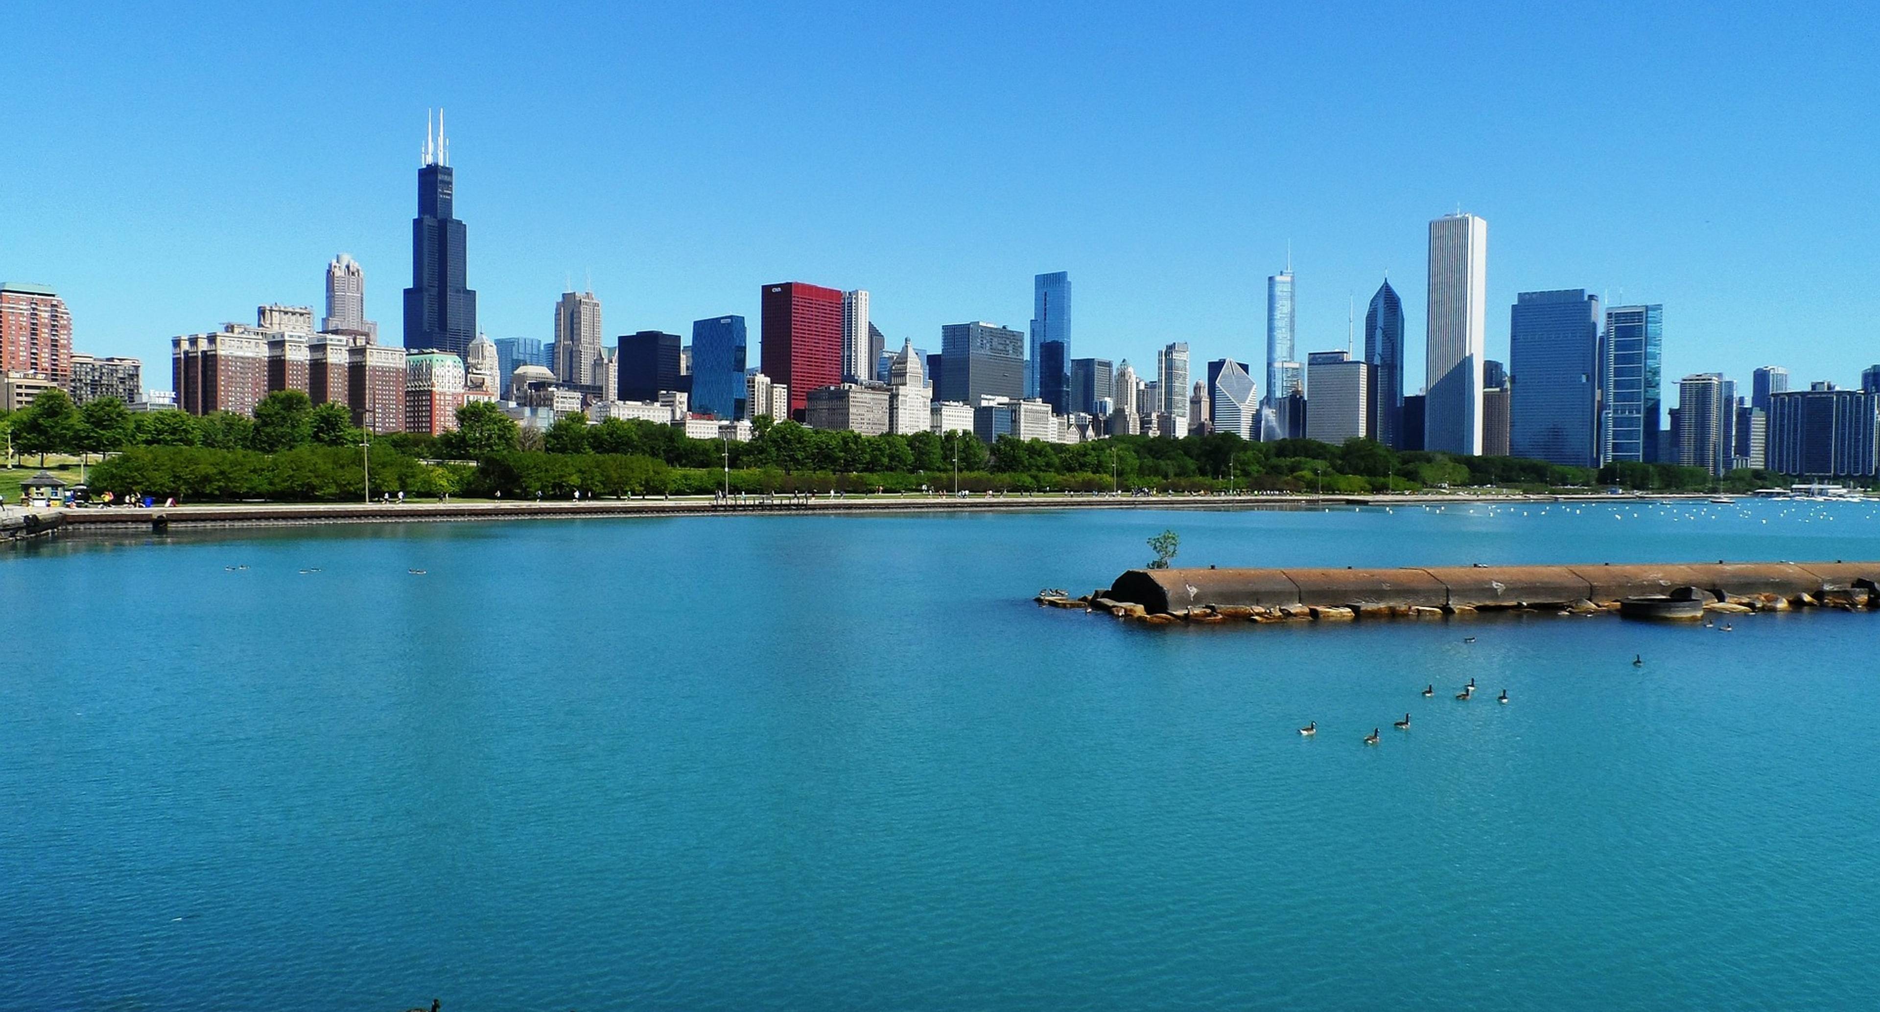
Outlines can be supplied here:
[[[1508, 312], [1508, 449], [1513, 456], [1600, 462], [1600, 297], [1523, 291]], [[1498, 387], [1483, 377], [1485, 387]]]

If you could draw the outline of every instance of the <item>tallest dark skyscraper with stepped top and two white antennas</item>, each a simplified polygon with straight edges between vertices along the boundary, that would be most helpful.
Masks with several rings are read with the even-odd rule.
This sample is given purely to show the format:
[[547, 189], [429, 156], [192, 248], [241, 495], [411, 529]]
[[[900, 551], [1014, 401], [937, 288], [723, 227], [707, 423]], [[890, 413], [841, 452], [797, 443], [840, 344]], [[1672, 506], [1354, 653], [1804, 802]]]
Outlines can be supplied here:
[[[476, 340], [476, 293], [464, 287], [468, 240], [455, 218], [455, 176], [444, 113], [436, 137], [425, 122], [423, 165], [417, 169], [417, 218], [412, 218], [412, 287], [404, 289], [404, 347], [462, 355]], [[402, 392], [404, 387], [400, 385]]]

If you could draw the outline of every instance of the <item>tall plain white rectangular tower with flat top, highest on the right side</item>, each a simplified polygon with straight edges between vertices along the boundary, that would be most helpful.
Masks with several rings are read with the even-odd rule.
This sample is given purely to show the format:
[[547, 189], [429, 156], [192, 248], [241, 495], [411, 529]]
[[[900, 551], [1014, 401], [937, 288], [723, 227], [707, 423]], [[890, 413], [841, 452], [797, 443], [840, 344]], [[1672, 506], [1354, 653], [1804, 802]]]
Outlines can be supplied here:
[[1487, 287], [1489, 223], [1474, 214], [1444, 214], [1431, 222], [1425, 449], [1481, 452]]

